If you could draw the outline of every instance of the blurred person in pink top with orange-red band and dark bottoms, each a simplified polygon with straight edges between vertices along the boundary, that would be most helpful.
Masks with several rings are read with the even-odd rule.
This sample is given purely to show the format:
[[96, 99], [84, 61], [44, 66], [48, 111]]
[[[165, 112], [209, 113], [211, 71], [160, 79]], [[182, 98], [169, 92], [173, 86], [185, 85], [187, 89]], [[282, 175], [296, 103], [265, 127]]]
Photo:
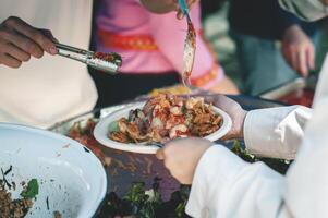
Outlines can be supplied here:
[[[223, 69], [202, 38], [199, 3], [192, 8], [191, 15], [197, 32], [192, 84], [236, 94], [234, 83], [224, 76]], [[149, 12], [135, 0], [100, 0], [96, 22], [96, 50], [114, 51], [123, 57], [120, 75], [93, 74], [100, 93], [98, 105], [118, 104], [154, 88], [180, 83], [185, 20], [177, 20], [174, 12]]]

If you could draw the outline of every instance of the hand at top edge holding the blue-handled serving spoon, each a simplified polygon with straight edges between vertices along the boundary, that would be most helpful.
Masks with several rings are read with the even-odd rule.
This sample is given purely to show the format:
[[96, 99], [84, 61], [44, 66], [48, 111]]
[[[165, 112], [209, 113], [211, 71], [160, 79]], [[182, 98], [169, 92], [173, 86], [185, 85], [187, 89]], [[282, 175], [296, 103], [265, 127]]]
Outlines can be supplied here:
[[[184, 14], [179, 8], [178, 0], [141, 0], [142, 4], [150, 12], [154, 13], [168, 13], [177, 11], [177, 17], [183, 19]], [[189, 8], [191, 9], [197, 0], [186, 0]]]

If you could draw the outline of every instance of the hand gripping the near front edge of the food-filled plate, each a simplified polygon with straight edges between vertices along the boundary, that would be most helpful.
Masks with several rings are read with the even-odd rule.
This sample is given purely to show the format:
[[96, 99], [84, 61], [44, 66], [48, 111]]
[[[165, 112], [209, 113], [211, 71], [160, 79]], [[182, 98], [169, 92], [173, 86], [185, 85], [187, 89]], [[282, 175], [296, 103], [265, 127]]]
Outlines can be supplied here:
[[191, 184], [203, 154], [212, 145], [198, 137], [177, 138], [159, 149], [156, 157], [163, 160], [166, 168], [182, 184]]

